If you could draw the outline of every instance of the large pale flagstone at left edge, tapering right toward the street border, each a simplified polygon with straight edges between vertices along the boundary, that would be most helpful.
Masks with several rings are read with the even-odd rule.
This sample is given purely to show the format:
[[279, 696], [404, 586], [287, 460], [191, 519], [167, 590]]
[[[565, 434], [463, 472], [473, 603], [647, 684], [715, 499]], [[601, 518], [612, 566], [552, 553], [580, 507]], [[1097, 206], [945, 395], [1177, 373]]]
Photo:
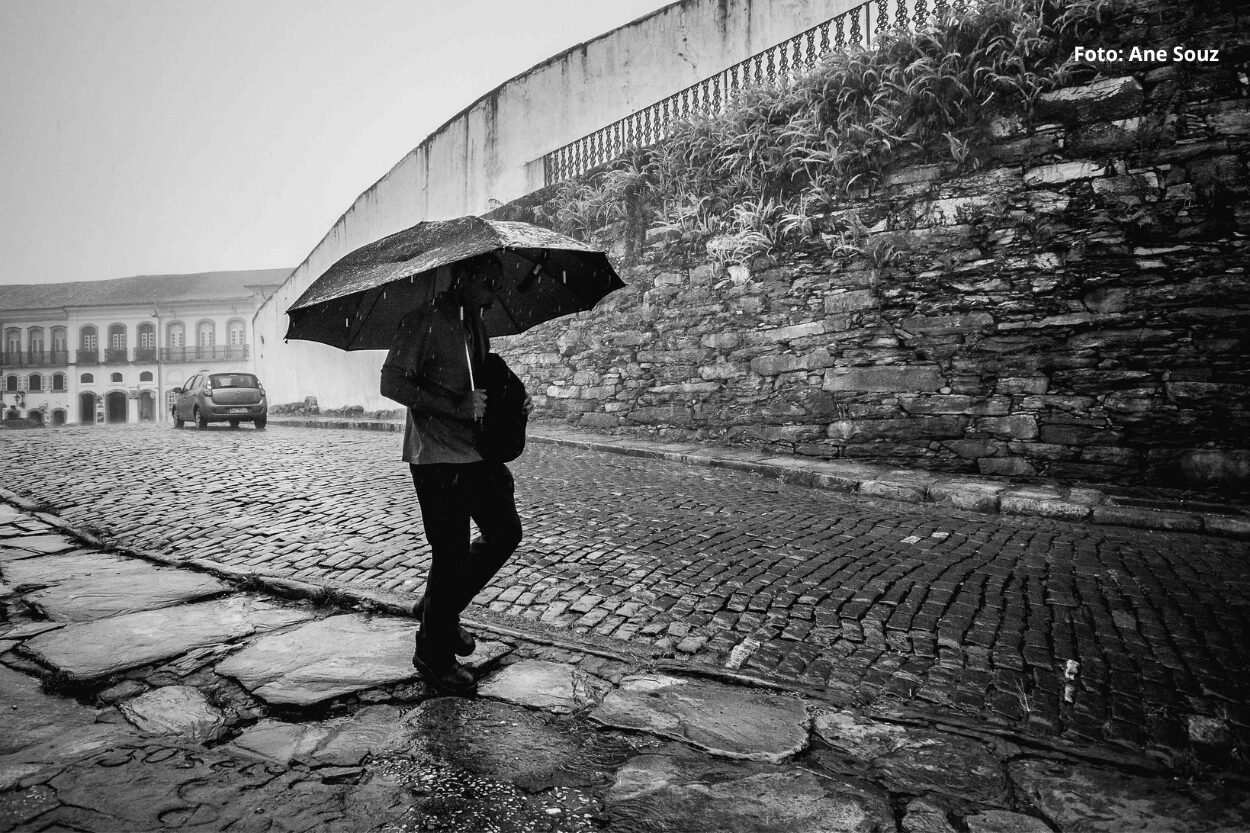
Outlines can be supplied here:
[[151, 610], [231, 589], [204, 573], [92, 550], [0, 563], [0, 575], [14, 585], [48, 585], [26, 598], [56, 622], [90, 622]]

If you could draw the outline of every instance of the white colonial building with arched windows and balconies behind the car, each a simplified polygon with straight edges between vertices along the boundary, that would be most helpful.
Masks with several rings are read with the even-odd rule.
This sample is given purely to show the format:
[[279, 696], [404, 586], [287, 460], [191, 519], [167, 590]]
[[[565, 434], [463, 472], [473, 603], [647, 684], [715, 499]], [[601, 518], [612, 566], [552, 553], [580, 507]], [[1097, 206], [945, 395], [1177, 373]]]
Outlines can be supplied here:
[[290, 269], [0, 285], [0, 415], [168, 422], [201, 368], [255, 366], [252, 316]]

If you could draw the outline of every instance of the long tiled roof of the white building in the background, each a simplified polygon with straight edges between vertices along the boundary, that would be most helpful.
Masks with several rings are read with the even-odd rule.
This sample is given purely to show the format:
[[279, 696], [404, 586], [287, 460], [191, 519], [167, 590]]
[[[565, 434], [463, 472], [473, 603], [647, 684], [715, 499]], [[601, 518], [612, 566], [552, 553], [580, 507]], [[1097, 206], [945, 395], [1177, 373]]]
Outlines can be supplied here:
[[0, 284], [0, 310], [154, 304], [245, 298], [251, 288], [265, 294], [279, 286], [290, 269], [201, 271], [194, 275], [136, 275], [68, 284]]

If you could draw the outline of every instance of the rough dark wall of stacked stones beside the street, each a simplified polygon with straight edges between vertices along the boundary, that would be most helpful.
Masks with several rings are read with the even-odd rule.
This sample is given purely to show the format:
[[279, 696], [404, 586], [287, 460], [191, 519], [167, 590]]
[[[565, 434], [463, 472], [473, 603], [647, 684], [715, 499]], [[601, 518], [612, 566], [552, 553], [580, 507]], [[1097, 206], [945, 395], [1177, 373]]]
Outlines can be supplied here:
[[1250, 90], [1221, 43], [1050, 94], [979, 170], [894, 170], [750, 268], [652, 241], [598, 310], [496, 346], [541, 414], [609, 433], [1244, 487]]

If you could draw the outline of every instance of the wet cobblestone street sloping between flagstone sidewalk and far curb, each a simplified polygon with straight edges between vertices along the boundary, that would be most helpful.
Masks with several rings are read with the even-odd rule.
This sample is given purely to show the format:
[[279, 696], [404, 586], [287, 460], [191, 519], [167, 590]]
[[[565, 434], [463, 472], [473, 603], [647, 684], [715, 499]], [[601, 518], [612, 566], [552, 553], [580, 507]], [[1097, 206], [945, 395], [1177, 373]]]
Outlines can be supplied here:
[[[288, 427], [9, 432], [0, 487], [118, 547], [415, 599], [428, 550], [399, 453], [396, 434]], [[1250, 740], [1244, 540], [541, 443], [512, 470], [525, 539], [474, 617], [1035, 735]]]

